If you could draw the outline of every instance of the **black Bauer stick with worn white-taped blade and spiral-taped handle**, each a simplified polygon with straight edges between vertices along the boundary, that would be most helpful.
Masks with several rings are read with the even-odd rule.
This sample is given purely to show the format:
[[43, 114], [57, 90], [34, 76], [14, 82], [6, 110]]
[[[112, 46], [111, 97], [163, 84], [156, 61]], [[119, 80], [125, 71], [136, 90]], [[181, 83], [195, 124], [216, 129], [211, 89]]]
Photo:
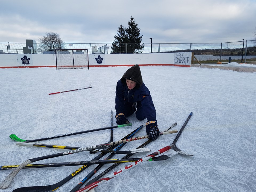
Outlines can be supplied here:
[[[160, 135], [166, 135], [166, 134], [177, 133], [177, 132], [178, 132], [177, 130], [172, 130], [172, 131], [167, 131], [167, 132], [164, 132], [164, 133], [160, 133]], [[79, 153], [79, 152], [88, 151], [88, 150], [91, 150], [91, 149], [96, 149], [97, 150], [98, 147], [102, 147], [102, 146], [108, 147], [108, 146], [111, 146], [111, 145], [126, 143], [126, 142], [130, 142], [130, 141], [136, 141], [136, 140], [145, 139], [145, 138], [148, 138], [148, 135], [141, 136], [141, 137], [130, 138], [130, 139], [123, 139], [123, 140], [119, 140], [119, 141], [115, 141], [115, 142], [105, 143], [103, 145], [100, 144], [100, 145], [94, 145], [94, 146], [90, 146], [90, 147], [79, 148], [79, 149], [72, 150], [72, 151], [67, 151], [67, 152], [64, 152], [64, 153], [57, 153], [57, 154], [46, 155], [46, 156], [37, 157], [37, 158], [33, 158], [33, 159], [28, 159], [27, 161], [25, 161], [21, 165], [19, 165], [16, 169], [14, 169], [5, 178], [5, 180], [0, 185], [0, 189], [6, 189], [11, 184], [11, 181], [14, 179], [14, 177], [19, 173], [19, 171], [23, 167], [25, 167], [26, 165], [29, 165], [32, 162], [40, 161], [40, 160], [43, 160], [43, 159], [49, 159], [49, 158], [53, 158], [53, 157], [60, 157], [60, 156], [63, 156], [63, 155], [69, 155], [69, 154], [73, 154], [73, 153]], [[31, 143], [23, 143], [23, 144], [31, 144]], [[140, 149], [140, 150], [142, 150], [142, 149]]]

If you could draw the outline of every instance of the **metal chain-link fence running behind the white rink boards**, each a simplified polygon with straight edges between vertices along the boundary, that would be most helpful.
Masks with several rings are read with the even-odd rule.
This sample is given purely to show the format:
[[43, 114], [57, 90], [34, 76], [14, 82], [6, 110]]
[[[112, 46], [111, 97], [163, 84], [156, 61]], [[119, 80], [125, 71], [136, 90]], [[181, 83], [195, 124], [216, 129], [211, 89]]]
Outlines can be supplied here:
[[[45, 49], [42, 43], [0, 43], [0, 54], [46, 54], [55, 49], [88, 49], [90, 54], [115, 53], [173, 53], [193, 52], [199, 61], [213, 62], [244, 60], [256, 62], [256, 41], [237, 41], [227, 43], [144, 43], [144, 44], [106, 44], [106, 43], [54, 43]], [[142, 49], [136, 50], [137, 47]]]

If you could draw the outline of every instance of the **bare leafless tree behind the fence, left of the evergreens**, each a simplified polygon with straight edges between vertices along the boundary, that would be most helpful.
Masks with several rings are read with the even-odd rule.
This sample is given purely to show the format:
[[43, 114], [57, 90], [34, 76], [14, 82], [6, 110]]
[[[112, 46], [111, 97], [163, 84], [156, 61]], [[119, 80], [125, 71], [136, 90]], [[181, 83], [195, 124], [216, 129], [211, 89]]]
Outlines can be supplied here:
[[63, 40], [59, 37], [59, 34], [52, 31], [47, 31], [46, 35], [39, 38], [39, 48], [45, 51], [55, 51], [55, 49], [64, 48], [61, 43]]

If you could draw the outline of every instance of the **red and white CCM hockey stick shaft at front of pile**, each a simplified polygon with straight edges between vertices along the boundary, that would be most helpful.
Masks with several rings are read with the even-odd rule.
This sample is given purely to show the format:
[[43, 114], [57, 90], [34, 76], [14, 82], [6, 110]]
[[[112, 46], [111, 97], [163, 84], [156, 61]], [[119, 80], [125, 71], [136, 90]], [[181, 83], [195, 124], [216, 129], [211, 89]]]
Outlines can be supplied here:
[[150, 154], [150, 155], [148, 155], [148, 156], [146, 156], [146, 157], [144, 157], [144, 158], [142, 158], [142, 159], [140, 159], [140, 160], [138, 160], [138, 161], [136, 161], [134, 163], [131, 163], [130, 165], [127, 165], [127, 166], [123, 167], [122, 169], [120, 169], [118, 171], [115, 171], [114, 173], [108, 175], [107, 177], [101, 178], [101, 179], [95, 181], [94, 183], [91, 183], [90, 185], [87, 185], [86, 187], [84, 187], [82, 189], [79, 189], [78, 191], [75, 191], [75, 192], [89, 191], [89, 190], [93, 189], [94, 187], [97, 187], [98, 185], [100, 185], [102, 183], [105, 183], [106, 181], [116, 177], [117, 175], [119, 175], [119, 174], [121, 174], [121, 173], [123, 173], [123, 172], [125, 172], [125, 171], [127, 171], [127, 170], [129, 170], [129, 169], [131, 169], [133, 167], [135, 167], [136, 165], [139, 165], [139, 164], [141, 164], [141, 163], [143, 163], [143, 162], [145, 162], [145, 161], [155, 157], [156, 155], [159, 155], [159, 154], [161, 154], [161, 153], [163, 153], [165, 151], [168, 151], [169, 149], [171, 149], [173, 147], [174, 147], [173, 144], [168, 145], [168, 146], [166, 146], [166, 147], [164, 147], [164, 148], [162, 148], [162, 149], [160, 149], [160, 150], [158, 150], [158, 151], [156, 151], [156, 152], [154, 152], [154, 153], [152, 153], [152, 154]]

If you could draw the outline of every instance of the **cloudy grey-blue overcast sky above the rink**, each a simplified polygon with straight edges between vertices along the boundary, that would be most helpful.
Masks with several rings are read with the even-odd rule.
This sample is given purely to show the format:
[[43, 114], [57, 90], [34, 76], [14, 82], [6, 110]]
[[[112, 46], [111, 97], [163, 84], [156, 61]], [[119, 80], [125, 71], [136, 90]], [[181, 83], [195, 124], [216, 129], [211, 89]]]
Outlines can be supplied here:
[[134, 17], [142, 43], [253, 40], [255, 0], [0, 0], [0, 43], [39, 42], [47, 31], [65, 43], [112, 43]]

